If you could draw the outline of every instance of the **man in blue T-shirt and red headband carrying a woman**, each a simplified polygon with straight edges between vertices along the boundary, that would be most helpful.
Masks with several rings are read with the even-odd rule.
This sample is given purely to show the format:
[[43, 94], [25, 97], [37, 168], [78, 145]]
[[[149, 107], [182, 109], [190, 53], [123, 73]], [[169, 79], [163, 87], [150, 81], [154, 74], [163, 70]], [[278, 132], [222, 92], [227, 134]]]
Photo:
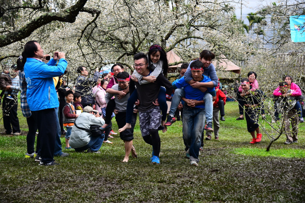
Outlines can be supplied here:
[[[196, 82], [210, 82], [211, 79], [203, 75], [203, 63], [194, 61], [191, 65], [192, 78]], [[184, 76], [174, 84], [174, 89], [184, 88], [185, 97], [181, 97], [185, 101], [183, 107], [183, 141], [186, 146], [186, 157], [190, 159], [192, 166], [198, 166], [200, 140], [205, 120], [205, 104], [203, 102], [204, 92], [198, 88], [189, 85]], [[207, 88], [207, 92], [213, 97], [216, 96], [215, 88]]]

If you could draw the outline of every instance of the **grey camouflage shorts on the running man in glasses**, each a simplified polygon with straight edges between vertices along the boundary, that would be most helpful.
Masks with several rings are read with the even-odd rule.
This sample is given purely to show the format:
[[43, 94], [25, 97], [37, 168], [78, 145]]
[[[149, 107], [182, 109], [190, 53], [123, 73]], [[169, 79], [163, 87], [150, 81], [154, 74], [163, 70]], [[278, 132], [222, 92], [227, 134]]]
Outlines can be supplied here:
[[145, 112], [139, 112], [139, 122], [142, 137], [150, 135], [150, 129], [158, 130], [161, 125], [161, 111], [155, 107]]

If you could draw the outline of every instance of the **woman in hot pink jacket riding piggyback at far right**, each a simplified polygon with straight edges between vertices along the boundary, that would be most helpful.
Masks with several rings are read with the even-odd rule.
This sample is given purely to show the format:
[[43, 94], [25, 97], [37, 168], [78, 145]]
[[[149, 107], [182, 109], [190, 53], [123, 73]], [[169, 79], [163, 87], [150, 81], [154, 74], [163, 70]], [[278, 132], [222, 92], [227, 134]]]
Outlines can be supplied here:
[[[298, 116], [300, 118], [300, 122], [301, 123], [304, 123], [304, 119], [303, 119], [303, 115], [302, 115], [302, 107], [301, 107], [301, 103], [303, 102], [303, 99], [304, 97], [302, 96], [302, 92], [301, 92], [301, 89], [300, 87], [296, 84], [296, 83], [293, 83], [293, 79], [290, 75], [286, 75], [284, 77], [284, 81], [287, 82], [287, 85], [288, 85], [288, 89], [291, 90], [291, 93], [289, 93], [289, 96], [295, 96], [296, 97], [296, 106], [295, 106], [295, 109], [296, 109], [296, 112], [298, 113]], [[274, 96], [282, 96], [282, 93], [280, 91], [280, 87], [278, 86], [278, 88], [276, 88], [274, 91], [273, 91], [273, 95]], [[277, 118], [278, 117], [278, 112], [277, 110], [275, 110], [275, 114], [274, 116]], [[276, 119], [278, 120], [278, 119]]]

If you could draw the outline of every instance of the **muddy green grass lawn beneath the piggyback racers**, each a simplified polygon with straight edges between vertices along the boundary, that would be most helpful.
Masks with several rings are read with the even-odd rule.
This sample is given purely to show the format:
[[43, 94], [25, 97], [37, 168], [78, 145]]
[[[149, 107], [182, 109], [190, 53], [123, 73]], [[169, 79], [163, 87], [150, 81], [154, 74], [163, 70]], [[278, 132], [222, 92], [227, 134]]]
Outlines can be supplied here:
[[[198, 167], [185, 159], [182, 122], [160, 133], [160, 165], [151, 165], [152, 147], [136, 124], [138, 158], [124, 158], [118, 135], [103, 144], [101, 154], [70, 153], [55, 158], [59, 166], [38, 166], [25, 159], [26, 136], [0, 136], [1, 202], [304, 202], [305, 139], [300, 127], [296, 144], [282, 136], [265, 152], [269, 139], [249, 145], [246, 121], [236, 121], [238, 106], [228, 102], [220, 140], [205, 141]], [[25, 119], [20, 115], [23, 133]], [[114, 131], [117, 126], [113, 122]], [[268, 129], [268, 128], [267, 128]], [[3, 129], [2, 129], [3, 130]], [[61, 138], [64, 146], [64, 138]], [[262, 155], [272, 156], [262, 156]], [[283, 157], [283, 155], [285, 156]]]

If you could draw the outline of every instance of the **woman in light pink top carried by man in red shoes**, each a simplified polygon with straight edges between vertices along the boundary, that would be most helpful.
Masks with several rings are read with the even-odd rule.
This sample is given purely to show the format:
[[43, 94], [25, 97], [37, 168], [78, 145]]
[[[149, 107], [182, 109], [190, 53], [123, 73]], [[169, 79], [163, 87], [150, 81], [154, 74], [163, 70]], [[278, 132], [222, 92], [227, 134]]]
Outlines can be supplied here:
[[[257, 74], [256, 72], [254, 71], [250, 71], [248, 73], [248, 79], [249, 79], [249, 82], [250, 82], [250, 86], [251, 86], [251, 91], [256, 91], [258, 90], [258, 82], [256, 80], [257, 78]], [[249, 92], [247, 94], [250, 94]], [[236, 118], [236, 120], [244, 120], [244, 109], [243, 109], [243, 106], [244, 106], [244, 99], [243, 97], [245, 96], [245, 94], [242, 93], [242, 86], [239, 86], [238, 88], [238, 93], [237, 93], [237, 101], [238, 101], [238, 107], [239, 107], [239, 114], [240, 116], [238, 118]], [[264, 110], [264, 106], [261, 105], [262, 109], [261, 109], [261, 114], [262, 114], [262, 117], [263, 119], [265, 118], [265, 110]]]

